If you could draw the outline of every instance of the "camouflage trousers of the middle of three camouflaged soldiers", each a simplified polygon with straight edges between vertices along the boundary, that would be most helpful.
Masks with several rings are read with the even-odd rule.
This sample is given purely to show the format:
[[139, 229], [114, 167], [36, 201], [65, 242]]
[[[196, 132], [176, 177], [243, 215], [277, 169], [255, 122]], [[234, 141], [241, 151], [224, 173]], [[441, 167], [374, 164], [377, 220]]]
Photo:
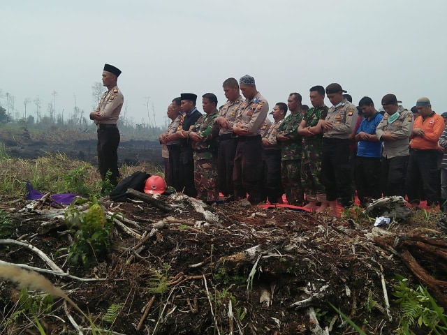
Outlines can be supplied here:
[[300, 159], [281, 161], [281, 182], [288, 204], [300, 206], [304, 200]]

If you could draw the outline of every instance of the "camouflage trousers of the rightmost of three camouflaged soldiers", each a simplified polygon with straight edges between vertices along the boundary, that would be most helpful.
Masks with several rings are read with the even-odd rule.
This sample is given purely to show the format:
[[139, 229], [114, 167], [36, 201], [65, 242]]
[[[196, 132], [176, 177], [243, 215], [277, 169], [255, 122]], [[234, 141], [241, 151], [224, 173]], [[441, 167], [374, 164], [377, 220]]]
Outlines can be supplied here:
[[301, 184], [307, 197], [315, 197], [317, 194], [325, 193], [321, 182], [321, 158], [322, 144], [304, 142], [301, 155]]

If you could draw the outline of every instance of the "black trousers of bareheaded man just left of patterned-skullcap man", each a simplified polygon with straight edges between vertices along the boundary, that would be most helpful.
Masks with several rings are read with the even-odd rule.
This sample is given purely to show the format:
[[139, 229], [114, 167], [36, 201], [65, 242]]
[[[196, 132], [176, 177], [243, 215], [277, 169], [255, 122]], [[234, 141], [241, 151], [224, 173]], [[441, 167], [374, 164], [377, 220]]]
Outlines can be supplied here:
[[234, 195], [233, 168], [235, 165], [235, 154], [237, 137], [219, 140], [219, 151], [217, 154], [217, 184], [219, 191], [226, 197]]

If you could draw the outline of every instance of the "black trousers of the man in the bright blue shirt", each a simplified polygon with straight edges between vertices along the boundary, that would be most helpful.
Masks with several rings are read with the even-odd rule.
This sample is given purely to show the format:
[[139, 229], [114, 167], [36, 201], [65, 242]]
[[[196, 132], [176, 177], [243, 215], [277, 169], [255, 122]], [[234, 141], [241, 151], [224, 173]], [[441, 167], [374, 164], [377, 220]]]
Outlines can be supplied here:
[[380, 158], [357, 156], [354, 175], [358, 200], [362, 206], [365, 206], [365, 198], [382, 198]]

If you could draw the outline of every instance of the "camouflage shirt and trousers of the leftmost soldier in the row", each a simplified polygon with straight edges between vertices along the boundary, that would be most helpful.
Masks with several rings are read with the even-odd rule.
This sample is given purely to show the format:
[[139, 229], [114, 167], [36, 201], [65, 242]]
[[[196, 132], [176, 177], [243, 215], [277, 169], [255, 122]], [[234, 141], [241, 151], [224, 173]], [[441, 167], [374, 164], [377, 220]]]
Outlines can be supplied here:
[[217, 188], [217, 135], [219, 126], [215, 119], [217, 110], [201, 116], [191, 131], [202, 136], [202, 141], [193, 142], [194, 148], [194, 184], [197, 195], [203, 201], [219, 200]]

